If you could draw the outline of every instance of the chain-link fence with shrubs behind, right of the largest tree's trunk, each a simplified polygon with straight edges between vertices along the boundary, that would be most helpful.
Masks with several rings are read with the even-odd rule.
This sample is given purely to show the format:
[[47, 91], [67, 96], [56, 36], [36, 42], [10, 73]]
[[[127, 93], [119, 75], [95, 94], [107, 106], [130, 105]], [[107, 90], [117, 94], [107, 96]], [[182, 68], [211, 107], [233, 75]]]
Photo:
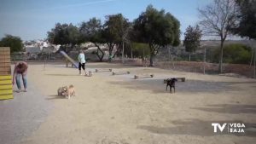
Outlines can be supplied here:
[[[223, 73], [253, 78], [253, 51], [251, 50], [248, 50], [248, 53], [246, 54], [243, 54], [244, 52], [237, 51], [237, 53], [240, 53], [240, 56], [235, 55], [234, 58], [230, 55], [224, 55]], [[189, 54], [185, 52], [185, 49], [182, 47], [161, 49], [160, 54], [156, 56], [155, 66], [177, 71], [200, 72], [207, 74], [218, 73], [218, 51], [219, 49], [216, 47], [202, 47], [195, 51], [195, 53]], [[241, 64], [228, 63], [227, 61], [229, 60], [241, 60]]]

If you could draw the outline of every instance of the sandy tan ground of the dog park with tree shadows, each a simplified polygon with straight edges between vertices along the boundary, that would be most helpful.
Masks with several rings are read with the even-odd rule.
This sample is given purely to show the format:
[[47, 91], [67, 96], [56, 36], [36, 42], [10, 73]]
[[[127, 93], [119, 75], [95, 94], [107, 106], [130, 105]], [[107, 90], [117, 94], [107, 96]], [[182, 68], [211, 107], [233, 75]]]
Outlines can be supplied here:
[[[29, 91], [15, 93], [13, 101], [21, 96], [26, 98], [19, 111], [30, 101], [41, 101], [28, 104], [30, 111], [41, 112], [41, 117], [23, 118], [25, 126], [34, 126], [21, 138], [9, 132], [14, 139], [6, 139], [2, 129], [0, 138], [6, 139], [5, 143], [22, 144], [256, 143], [254, 79], [108, 63], [89, 63], [87, 67], [93, 72], [95, 68], [113, 68], [113, 72], [131, 74], [112, 76], [111, 72], [97, 72], [93, 77], [84, 77], [79, 76], [77, 69], [63, 64], [50, 63], [45, 69], [43, 64], [30, 64]], [[154, 78], [133, 79], [134, 74], [145, 73], [154, 73]], [[166, 92], [163, 84], [163, 79], [170, 77], [187, 78], [186, 82], [177, 83], [175, 94]], [[57, 89], [68, 84], [75, 86], [77, 96], [70, 100], [56, 96]], [[9, 105], [15, 102], [0, 103], [1, 123], [2, 113], [19, 112]], [[6, 125], [14, 123], [10, 119], [1, 127], [5, 125], [8, 131]], [[244, 123], [246, 133], [216, 134], [212, 123]], [[19, 130], [22, 132], [23, 128]]]

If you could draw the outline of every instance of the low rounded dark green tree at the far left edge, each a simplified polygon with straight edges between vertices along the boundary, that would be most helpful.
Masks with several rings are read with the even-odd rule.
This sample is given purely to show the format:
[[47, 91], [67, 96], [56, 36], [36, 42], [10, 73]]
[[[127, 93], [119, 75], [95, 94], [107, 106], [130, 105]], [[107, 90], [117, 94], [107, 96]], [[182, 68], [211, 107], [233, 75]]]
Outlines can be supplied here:
[[6, 35], [0, 41], [1, 47], [10, 47], [10, 52], [19, 52], [23, 48], [22, 40], [20, 37], [15, 37], [12, 35]]

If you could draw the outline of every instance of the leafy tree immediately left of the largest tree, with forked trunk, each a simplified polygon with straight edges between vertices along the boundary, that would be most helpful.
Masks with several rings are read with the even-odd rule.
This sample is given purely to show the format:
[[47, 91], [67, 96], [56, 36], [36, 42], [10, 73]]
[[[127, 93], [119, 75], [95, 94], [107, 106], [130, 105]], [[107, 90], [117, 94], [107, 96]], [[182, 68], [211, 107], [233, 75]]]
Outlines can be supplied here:
[[113, 14], [106, 16], [103, 25], [103, 37], [108, 44], [109, 61], [112, 60], [114, 45], [120, 45], [125, 40], [125, 33], [129, 27], [129, 22], [122, 14]]

